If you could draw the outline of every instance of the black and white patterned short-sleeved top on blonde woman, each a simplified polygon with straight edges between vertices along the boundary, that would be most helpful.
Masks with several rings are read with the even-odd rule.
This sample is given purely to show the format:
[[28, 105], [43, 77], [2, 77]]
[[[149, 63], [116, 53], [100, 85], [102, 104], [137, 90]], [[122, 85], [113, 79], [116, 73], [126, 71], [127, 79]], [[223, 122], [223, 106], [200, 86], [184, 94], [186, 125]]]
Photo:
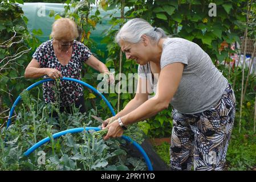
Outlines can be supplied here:
[[[57, 59], [54, 48], [52, 46], [52, 39], [42, 43], [32, 55], [34, 59], [40, 64], [40, 68], [55, 68], [58, 69], [63, 77], [76, 78], [81, 80], [80, 72], [84, 61], [92, 55], [91, 51], [84, 46], [83, 43], [74, 40], [73, 52], [71, 60], [67, 65], [60, 64]], [[47, 76], [44, 76], [44, 78]], [[48, 81], [43, 83], [43, 98], [46, 103], [55, 102], [55, 91], [52, 86], [55, 81]], [[83, 95], [83, 86], [73, 81], [60, 81], [60, 105], [68, 106], [74, 103], [80, 96]]]

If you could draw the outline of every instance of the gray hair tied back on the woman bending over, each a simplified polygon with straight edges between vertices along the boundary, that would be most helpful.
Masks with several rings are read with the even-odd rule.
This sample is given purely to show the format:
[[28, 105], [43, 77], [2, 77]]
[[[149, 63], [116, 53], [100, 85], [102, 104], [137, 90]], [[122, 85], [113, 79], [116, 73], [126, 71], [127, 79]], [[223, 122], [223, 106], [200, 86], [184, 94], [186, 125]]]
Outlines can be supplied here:
[[159, 39], [165, 38], [165, 32], [162, 28], [152, 27], [146, 20], [135, 18], [129, 20], [117, 32], [115, 41], [127, 41], [129, 43], [139, 43], [142, 35], [147, 35], [153, 42], [159, 42]]

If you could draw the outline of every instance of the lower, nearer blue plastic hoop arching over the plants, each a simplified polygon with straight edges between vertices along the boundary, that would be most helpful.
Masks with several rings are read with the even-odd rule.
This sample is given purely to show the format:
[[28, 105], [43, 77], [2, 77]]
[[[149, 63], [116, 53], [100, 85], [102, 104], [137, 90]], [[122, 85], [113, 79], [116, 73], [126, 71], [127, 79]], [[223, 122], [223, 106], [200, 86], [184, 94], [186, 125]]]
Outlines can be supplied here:
[[[60, 131], [58, 133], [55, 133], [52, 135], [52, 137], [54, 139], [61, 137], [62, 135], [66, 135], [67, 133], [79, 133], [82, 132], [84, 130], [83, 127], [78, 127], [75, 129], [70, 129], [70, 130], [64, 130], [64, 131]], [[99, 131], [100, 129], [98, 127], [86, 127], [86, 131], [88, 130], [95, 130], [95, 131]], [[148, 158], [148, 155], [146, 154], [146, 152], [143, 150], [143, 148], [134, 140], [132, 140], [131, 138], [127, 137], [127, 136], [122, 136], [121, 138], [123, 138], [124, 140], [126, 140], [128, 143], [132, 143], [133, 146], [135, 146], [137, 148], [137, 150], [140, 151], [140, 153], [143, 155], [143, 158], [145, 159], [145, 162], [148, 166], [148, 170], [149, 171], [153, 171], [153, 167], [151, 164], [151, 160]], [[28, 156], [31, 154], [31, 152], [33, 152], [34, 150], [36, 150], [36, 148], [42, 146], [44, 143], [50, 142], [51, 138], [50, 137], [46, 137], [42, 140], [40, 140], [38, 143], [34, 144], [34, 146], [30, 147], [25, 153], [25, 156]]]

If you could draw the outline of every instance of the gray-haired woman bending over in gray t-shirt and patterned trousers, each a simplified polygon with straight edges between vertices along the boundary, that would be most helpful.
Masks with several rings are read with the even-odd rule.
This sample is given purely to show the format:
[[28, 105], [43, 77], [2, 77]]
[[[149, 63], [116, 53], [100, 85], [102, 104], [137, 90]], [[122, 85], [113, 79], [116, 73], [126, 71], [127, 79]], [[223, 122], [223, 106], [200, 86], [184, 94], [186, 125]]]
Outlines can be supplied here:
[[[208, 54], [188, 40], [167, 38], [161, 28], [143, 19], [125, 23], [116, 42], [127, 59], [139, 64], [139, 81], [135, 98], [105, 121], [112, 120], [103, 125], [108, 129], [104, 139], [120, 137], [128, 125], [171, 104], [170, 166], [189, 170], [194, 160], [196, 170], [223, 169], [235, 117], [235, 96]], [[143, 82], [157, 87], [154, 97], [148, 99]]]

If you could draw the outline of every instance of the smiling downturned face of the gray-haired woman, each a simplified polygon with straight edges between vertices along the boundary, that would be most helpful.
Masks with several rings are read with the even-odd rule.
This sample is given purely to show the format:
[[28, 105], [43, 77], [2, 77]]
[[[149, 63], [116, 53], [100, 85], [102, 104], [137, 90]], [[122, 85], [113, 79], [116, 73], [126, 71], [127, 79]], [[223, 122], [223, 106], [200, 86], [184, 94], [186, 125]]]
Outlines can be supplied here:
[[120, 40], [121, 50], [125, 53], [126, 59], [135, 60], [140, 65], [145, 65], [149, 61], [148, 49], [145, 42], [141, 41], [136, 44]]

